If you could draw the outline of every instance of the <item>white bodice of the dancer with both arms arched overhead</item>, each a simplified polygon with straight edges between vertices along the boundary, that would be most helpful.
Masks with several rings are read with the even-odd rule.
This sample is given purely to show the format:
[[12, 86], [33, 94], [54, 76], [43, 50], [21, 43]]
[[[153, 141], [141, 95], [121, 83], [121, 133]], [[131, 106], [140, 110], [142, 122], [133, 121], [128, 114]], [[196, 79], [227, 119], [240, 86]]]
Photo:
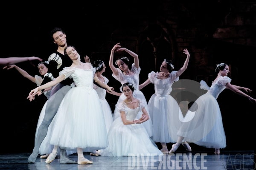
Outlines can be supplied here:
[[126, 75], [119, 68], [116, 68], [116, 70], [118, 71], [118, 75], [115, 76], [114, 74], [112, 74], [112, 76], [115, 79], [117, 79], [119, 82], [121, 82], [122, 85], [125, 84], [126, 82], [130, 82], [131, 84], [133, 84], [135, 88], [133, 94], [134, 96], [136, 96], [137, 92], [139, 91], [140, 68], [136, 68], [134, 63], [131, 65], [131, 71], [134, 72], [134, 75]]

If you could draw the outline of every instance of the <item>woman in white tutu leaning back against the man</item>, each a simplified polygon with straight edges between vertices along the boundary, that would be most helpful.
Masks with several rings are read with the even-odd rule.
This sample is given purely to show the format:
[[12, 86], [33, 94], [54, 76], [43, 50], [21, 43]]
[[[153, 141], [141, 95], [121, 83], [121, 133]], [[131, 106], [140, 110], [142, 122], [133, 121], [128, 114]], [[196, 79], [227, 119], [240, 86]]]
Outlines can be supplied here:
[[[99, 96], [93, 89], [93, 79], [108, 91], [112, 91], [112, 87], [105, 85], [97, 76], [94, 76], [95, 68], [90, 63], [81, 62], [79, 54], [73, 46], [67, 46], [64, 49], [64, 54], [70, 57], [73, 64], [64, 68], [59, 73], [60, 76], [52, 82], [32, 90], [29, 96], [38, 90], [52, 87], [68, 77], [73, 78], [76, 87], [68, 91], [58, 108], [53, 120], [50, 144], [68, 150], [76, 149], [78, 164], [92, 164], [92, 161], [84, 158], [83, 152], [108, 147], [104, 115]], [[56, 154], [51, 153], [47, 162], [53, 161]]]

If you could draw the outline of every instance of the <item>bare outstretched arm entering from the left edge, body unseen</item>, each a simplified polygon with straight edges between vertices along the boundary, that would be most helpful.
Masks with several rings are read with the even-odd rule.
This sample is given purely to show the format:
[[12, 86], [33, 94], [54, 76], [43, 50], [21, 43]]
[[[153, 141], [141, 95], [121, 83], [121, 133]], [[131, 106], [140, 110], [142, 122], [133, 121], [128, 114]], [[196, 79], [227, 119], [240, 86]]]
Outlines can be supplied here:
[[8, 58], [0, 58], [0, 65], [13, 65], [18, 62], [32, 61], [35, 59], [39, 61], [43, 61], [43, 59], [39, 57], [8, 57]]

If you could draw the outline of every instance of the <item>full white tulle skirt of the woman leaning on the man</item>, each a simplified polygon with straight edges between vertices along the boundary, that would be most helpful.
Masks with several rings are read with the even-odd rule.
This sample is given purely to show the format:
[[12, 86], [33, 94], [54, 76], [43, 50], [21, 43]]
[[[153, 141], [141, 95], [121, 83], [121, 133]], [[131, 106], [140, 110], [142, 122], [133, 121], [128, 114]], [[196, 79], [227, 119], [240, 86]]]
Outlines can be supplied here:
[[84, 152], [108, 147], [104, 114], [97, 92], [74, 87], [62, 100], [54, 117], [50, 144]]

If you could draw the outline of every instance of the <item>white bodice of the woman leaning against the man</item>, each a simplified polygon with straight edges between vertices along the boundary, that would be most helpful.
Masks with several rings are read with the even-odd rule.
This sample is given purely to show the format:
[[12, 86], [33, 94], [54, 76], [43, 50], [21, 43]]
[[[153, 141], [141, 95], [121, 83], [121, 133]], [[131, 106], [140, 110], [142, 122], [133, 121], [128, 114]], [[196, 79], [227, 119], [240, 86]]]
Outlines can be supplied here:
[[90, 69], [80, 69], [76, 67], [65, 67], [59, 75], [64, 74], [65, 79], [67, 77], [72, 78], [76, 84], [76, 87], [84, 88], [88, 93], [93, 90], [93, 77], [95, 74], [95, 68], [91, 66]]

